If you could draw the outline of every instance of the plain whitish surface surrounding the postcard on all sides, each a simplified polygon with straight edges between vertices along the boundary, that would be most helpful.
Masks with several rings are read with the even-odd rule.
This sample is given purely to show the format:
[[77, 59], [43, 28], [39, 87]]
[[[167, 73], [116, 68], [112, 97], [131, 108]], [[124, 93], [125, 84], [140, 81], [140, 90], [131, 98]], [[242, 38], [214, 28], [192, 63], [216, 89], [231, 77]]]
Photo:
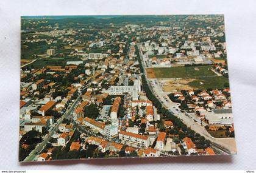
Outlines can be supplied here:
[[[256, 1], [0, 1], [0, 169], [256, 169]], [[18, 163], [21, 15], [224, 14], [238, 154]]]

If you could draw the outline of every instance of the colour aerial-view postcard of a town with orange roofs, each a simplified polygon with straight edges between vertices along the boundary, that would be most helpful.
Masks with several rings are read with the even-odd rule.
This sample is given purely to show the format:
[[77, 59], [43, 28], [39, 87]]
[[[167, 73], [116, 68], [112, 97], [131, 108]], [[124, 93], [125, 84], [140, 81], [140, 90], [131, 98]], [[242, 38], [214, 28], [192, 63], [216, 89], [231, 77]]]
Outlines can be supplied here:
[[20, 78], [21, 162], [236, 154], [224, 15], [21, 16]]

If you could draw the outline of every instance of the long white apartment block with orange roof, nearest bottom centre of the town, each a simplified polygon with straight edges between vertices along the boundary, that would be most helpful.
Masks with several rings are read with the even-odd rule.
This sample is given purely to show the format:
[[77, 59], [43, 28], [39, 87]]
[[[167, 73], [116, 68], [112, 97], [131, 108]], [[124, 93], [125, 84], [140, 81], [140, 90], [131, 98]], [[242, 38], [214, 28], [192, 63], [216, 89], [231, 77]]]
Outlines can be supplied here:
[[135, 148], [148, 148], [149, 146], [149, 137], [133, 134], [131, 132], [120, 131], [119, 139], [121, 143]]

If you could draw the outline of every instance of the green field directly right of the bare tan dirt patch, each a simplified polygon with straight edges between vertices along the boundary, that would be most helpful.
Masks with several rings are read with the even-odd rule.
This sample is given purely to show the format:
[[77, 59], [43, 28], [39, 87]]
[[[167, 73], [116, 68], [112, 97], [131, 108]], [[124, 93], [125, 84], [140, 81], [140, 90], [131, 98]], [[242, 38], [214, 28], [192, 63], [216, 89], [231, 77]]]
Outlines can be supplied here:
[[229, 79], [223, 76], [196, 78], [188, 85], [195, 89], [224, 89], [229, 87]]

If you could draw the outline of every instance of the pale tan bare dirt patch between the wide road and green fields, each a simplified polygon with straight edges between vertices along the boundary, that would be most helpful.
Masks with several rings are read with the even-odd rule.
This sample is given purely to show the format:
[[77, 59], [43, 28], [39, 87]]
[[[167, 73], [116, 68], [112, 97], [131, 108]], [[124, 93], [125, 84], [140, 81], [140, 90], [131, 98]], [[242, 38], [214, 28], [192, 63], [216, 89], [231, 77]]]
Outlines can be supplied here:
[[193, 78], [188, 79], [168, 79], [168, 80], [159, 80], [162, 84], [163, 92], [176, 92], [180, 90], [189, 90], [193, 89], [188, 83], [194, 81]]

